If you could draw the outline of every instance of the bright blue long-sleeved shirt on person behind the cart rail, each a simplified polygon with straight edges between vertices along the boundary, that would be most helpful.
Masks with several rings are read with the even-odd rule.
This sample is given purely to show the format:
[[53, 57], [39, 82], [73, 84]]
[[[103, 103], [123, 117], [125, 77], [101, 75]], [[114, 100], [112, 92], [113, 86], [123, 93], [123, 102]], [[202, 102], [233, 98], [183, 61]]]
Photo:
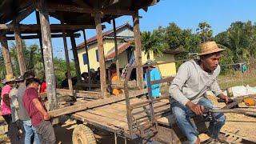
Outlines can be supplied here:
[[[158, 69], [153, 68], [150, 70], [150, 81], [156, 81], [162, 79], [161, 74]], [[146, 87], [148, 85], [147, 83], [147, 75], [144, 74], [144, 82], [146, 82]], [[161, 92], [160, 92], [160, 84], [154, 84], [151, 86], [151, 91], [152, 91], [152, 97], [160, 97]]]

